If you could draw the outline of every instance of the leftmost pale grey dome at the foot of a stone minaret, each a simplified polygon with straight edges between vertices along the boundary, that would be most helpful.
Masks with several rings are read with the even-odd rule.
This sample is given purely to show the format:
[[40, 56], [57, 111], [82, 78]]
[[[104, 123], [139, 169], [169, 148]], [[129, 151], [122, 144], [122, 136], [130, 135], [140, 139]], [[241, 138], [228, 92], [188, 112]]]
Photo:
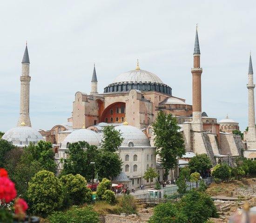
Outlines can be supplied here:
[[42, 135], [28, 126], [18, 126], [13, 129], [8, 130], [2, 137], [13, 145], [18, 147], [24, 147], [30, 143], [37, 144], [40, 140], [44, 140]]

